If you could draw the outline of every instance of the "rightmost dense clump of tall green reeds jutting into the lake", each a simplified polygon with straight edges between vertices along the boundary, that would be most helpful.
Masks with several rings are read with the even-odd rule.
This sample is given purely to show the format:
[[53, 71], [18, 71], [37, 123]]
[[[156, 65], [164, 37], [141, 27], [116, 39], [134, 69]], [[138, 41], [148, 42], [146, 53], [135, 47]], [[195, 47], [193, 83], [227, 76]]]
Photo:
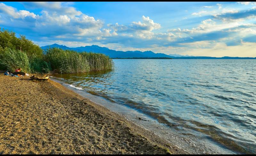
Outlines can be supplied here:
[[86, 73], [106, 71], [114, 67], [113, 60], [100, 53], [77, 53], [73, 50], [50, 48], [45, 52], [45, 60], [57, 73]]

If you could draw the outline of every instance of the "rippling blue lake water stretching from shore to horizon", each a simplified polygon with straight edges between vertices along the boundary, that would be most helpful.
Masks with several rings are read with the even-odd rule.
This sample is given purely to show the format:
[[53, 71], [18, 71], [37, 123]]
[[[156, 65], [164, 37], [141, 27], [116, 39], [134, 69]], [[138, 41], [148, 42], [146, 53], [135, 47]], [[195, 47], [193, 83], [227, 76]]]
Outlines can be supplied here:
[[256, 60], [113, 61], [112, 71], [55, 76], [222, 148], [256, 153]]

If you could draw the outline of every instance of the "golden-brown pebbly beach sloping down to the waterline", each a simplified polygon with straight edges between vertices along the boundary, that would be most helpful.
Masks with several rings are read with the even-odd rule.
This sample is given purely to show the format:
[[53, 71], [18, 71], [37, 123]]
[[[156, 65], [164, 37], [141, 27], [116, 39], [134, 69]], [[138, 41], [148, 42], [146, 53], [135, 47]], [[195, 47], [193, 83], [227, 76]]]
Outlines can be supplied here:
[[0, 74], [2, 154], [188, 154], [54, 81]]

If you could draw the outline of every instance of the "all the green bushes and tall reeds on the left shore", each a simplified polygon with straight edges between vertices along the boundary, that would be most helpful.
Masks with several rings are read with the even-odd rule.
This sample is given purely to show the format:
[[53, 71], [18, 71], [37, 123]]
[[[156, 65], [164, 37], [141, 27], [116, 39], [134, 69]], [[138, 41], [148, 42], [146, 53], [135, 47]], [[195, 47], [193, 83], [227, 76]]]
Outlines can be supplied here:
[[44, 51], [32, 41], [0, 28], [0, 70], [26, 73], [85, 73], [111, 70], [113, 60], [101, 53], [77, 53], [59, 48]]

